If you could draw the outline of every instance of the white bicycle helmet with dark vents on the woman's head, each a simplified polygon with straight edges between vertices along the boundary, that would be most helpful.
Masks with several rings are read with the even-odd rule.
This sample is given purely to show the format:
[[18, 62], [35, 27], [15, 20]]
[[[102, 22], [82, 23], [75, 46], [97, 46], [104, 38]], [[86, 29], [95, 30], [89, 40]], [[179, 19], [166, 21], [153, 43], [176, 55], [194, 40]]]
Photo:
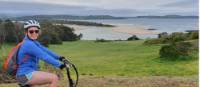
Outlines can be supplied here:
[[28, 20], [24, 23], [24, 29], [27, 30], [30, 27], [37, 27], [38, 29], [40, 29], [40, 23], [36, 20]]

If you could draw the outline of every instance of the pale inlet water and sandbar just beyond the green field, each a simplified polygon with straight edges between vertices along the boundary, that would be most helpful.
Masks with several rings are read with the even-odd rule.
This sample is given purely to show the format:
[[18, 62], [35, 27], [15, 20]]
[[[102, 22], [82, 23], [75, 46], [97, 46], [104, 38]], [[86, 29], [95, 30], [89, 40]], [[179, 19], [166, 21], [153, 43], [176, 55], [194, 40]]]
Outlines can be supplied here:
[[120, 25], [116, 24], [115, 27], [96, 27], [96, 26], [82, 26], [64, 24], [65, 26], [72, 27], [76, 34], [83, 34], [82, 40], [127, 40], [132, 35], [137, 35], [141, 39], [156, 38], [157, 32], [147, 30], [143, 26], [134, 25]]

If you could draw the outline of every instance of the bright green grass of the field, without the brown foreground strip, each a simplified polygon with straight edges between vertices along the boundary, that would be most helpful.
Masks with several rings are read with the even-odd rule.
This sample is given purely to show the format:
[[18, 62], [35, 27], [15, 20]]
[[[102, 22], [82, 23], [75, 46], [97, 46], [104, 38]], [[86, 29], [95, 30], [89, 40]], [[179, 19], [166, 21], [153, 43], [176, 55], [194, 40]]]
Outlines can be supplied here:
[[[192, 60], [164, 61], [159, 59], [161, 45], [143, 45], [139, 41], [75, 41], [50, 45], [59, 55], [69, 57], [86, 76], [193, 76], [198, 75], [198, 52]], [[0, 53], [5, 56], [10, 44]], [[2, 58], [2, 55], [1, 55]], [[2, 64], [2, 63], [1, 63]]]

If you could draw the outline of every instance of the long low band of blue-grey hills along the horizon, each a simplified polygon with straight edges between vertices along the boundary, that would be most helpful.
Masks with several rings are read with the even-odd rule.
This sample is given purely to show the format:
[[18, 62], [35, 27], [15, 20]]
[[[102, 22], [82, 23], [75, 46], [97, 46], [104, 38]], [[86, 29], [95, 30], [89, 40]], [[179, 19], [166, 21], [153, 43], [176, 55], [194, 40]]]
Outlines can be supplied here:
[[135, 17], [114, 17], [110, 15], [88, 15], [88, 16], [76, 16], [76, 15], [32, 15], [32, 16], [6, 16], [0, 15], [0, 18], [12, 20], [24, 21], [30, 19], [36, 20], [95, 20], [95, 19], [128, 19], [128, 18], [199, 18], [198, 16], [181, 16], [181, 15], [165, 15], [165, 16], [135, 16]]

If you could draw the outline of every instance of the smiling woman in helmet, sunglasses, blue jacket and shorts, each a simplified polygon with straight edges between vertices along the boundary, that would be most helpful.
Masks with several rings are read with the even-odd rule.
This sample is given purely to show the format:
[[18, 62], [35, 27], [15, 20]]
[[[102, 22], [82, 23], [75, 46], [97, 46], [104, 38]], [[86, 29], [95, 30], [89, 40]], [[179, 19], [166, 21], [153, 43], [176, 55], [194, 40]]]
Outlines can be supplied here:
[[40, 24], [37, 21], [29, 20], [25, 22], [24, 29], [25, 38], [20, 47], [17, 60], [19, 64], [16, 73], [17, 82], [22, 87], [34, 87], [43, 84], [49, 84], [49, 87], [57, 87], [57, 75], [39, 71], [39, 60], [63, 69], [66, 65], [60, 63], [60, 61], [64, 60], [64, 57], [58, 56], [37, 41], [41, 32]]

